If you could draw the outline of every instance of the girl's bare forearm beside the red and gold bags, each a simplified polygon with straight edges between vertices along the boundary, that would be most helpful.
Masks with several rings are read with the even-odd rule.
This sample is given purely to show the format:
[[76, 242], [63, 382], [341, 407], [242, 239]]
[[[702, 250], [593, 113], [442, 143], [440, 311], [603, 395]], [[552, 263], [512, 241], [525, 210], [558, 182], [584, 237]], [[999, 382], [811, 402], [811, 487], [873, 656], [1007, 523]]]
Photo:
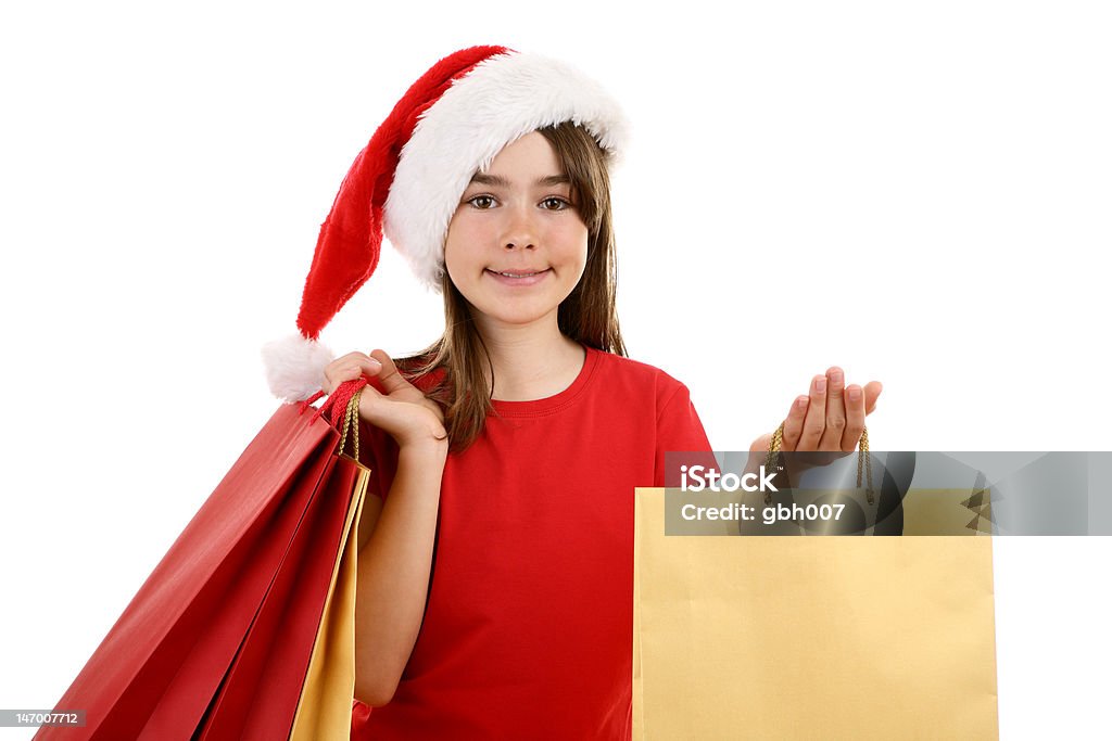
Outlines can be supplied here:
[[366, 541], [360, 534], [355, 698], [371, 707], [394, 697], [417, 642], [447, 451], [446, 441], [431, 438], [401, 445], [397, 473], [377, 522], [368, 518], [370, 534]]

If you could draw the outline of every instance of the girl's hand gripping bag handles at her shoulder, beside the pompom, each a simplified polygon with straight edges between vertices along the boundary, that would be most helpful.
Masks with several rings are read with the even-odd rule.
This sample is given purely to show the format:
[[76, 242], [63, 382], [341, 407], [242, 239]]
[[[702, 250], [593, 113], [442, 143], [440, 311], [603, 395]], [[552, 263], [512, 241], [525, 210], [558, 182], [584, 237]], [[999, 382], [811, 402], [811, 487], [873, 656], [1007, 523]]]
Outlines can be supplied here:
[[383, 350], [373, 350], [370, 356], [349, 352], [328, 363], [321, 389], [331, 393], [344, 381], [354, 381], [361, 375], [378, 379], [386, 393], [368, 384], [359, 397], [359, 417], [386, 430], [399, 448], [423, 443], [447, 444], [448, 434], [444, 429], [440, 407], [403, 378]]

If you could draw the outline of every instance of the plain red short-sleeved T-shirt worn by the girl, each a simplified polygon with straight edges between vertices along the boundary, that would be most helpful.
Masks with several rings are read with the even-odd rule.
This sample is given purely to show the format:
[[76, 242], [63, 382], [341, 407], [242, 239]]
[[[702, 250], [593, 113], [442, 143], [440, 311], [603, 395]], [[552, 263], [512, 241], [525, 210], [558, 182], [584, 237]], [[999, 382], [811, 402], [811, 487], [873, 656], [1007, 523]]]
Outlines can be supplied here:
[[[370, 431], [386, 492], [397, 450]], [[450, 454], [429, 598], [388, 705], [353, 739], [628, 739], [634, 488], [664, 453], [711, 450], [687, 389], [587, 349], [566, 390], [495, 401]], [[376, 493], [378, 493], [376, 492]]]

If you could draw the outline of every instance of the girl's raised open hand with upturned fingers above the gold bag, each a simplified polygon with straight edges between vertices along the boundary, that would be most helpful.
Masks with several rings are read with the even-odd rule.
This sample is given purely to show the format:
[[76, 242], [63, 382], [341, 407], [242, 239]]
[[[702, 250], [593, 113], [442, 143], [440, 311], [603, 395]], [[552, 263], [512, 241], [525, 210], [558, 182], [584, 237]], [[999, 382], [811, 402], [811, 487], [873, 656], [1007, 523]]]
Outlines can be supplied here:
[[[882, 388], [880, 381], [870, 381], [864, 389], [846, 385], [837, 366], [824, 375], [815, 375], [807, 395], [798, 397], [787, 412], [781, 450], [852, 453], [865, 429], [865, 415], [876, 407]], [[767, 452], [772, 435], [770, 432], [754, 440], [749, 452]]]

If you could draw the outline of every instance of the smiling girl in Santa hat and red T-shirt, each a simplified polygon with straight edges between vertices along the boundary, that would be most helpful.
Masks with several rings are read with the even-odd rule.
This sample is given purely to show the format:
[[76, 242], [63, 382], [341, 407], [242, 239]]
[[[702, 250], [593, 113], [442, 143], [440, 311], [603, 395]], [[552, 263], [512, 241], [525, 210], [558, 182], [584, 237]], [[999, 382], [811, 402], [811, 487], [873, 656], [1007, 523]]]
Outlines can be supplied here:
[[[299, 392], [373, 383], [353, 738], [631, 737], [634, 488], [664, 484], [665, 452], [711, 444], [687, 389], [625, 358], [608, 180], [623, 137], [574, 70], [467, 49], [403, 98], [322, 227], [305, 338], [374, 269], [384, 222], [446, 314], [416, 358], [351, 352]], [[820, 378], [785, 450], [861, 434], [878, 384]]]

